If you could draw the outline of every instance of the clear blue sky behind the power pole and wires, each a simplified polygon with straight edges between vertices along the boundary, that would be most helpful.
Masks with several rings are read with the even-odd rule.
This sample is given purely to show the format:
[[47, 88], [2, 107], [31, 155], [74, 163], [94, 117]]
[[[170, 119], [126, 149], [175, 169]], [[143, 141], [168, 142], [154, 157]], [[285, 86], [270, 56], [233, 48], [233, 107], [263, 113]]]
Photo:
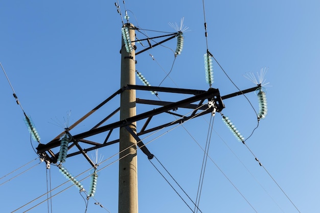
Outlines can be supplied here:
[[[48, 143], [63, 131], [63, 125], [57, 123], [63, 123], [67, 112], [71, 111], [69, 124], [72, 124], [120, 88], [122, 20], [115, 2], [0, 1], [0, 62], [22, 107], [33, 119], [41, 143]], [[174, 62], [161, 86], [209, 89], [203, 63], [207, 45], [202, 1], [119, 3], [122, 15], [127, 10], [129, 21], [141, 29], [143, 34], [136, 32], [139, 39], [176, 32], [168, 23], [179, 24], [182, 17], [184, 25], [189, 27], [184, 33], [182, 53], [175, 61], [176, 39], [136, 56], [136, 69], [152, 86], [163, 81]], [[257, 94], [246, 95], [250, 103], [244, 96], [226, 99], [222, 111], [247, 139], [247, 147], [264, 167], [237, 141], [222, 122], [222, 116], [216, 114], [199, 209], [201, 212], [318, 212], [320, 3], [246, 0], [204, 1], [204, 5], [208, 48], [227, 74], [214, 62], [212, 87], [218, 88], [221, 95], [237, 92], [235, 85], [240, 90], [255, 87], [243, 75], [260, 72], [261, 68], [267, 68], [265, 78], [271, 87], [265, 87], [268, 114], [249, 139], [257, 126], [250, 105], [259, 111]], [[137, 51], [144, 48], [137, 46]], [[22, 206], [16, 212], [30, 208], [29, 212], [85, 212], [86, 203], [79, 190], [70, 181], [65, 183], [66, 178], [55, 165], [46, 170], [45, 164], [40, 163], [31, 146], [24, 115], [12, 96], [5, 74], [1, 73], [1, 212]], [[138, 78], [136, 84], [142, 85]], [[150, 92], [139, 91], [137, 97], [158, 100]], [[159, 93], [158, 97], [178, 101], [189, 96]], [[71, 134], [92, 128], [119, 104], [117, 96]], [[146, 110], [150, 107], [137, 106], [137, 113]], [[184, 115], [190, 110], [178, 109], [176, 113]], [[154, 118], [154, 122], [166, 122], [166, 119], [175, 118], [161, 116]], [[107, 123], [118, 120], [116, 114]], [[211, 115], [207, 114], [144, 139], [144, 143], [150, 142], [148, 149], [193, 202], [197, 197], [202, 149], [207, 142], [210, 120]], [[142, 125], [138, 122], [138, 129]], [[164, 135], [157, 138], [161, 134]], [[101, 143], [105, 136], [92, 140]], [[117, 137], [117, 132], [111, 136]], [[32, 145], [37, 147], [38, 143], [32, 141]], [[89, 199], [88, 213], [118, 212], [118, 155], [108, 159], [118, 149], [118, 144], [99, 149], [105, 162], [99, 166], [103, 169], [98, 177], [96, 200]], [[88, 152], [90, 157], [94, 154]], [[114, 164], [107, 166], [113, 161]], [[152, 163], [192, 210], [139, 150], [139, 211], [192, 212], [192, 201], [155, 159]], [[83, 173], [78, 179], [89, 175], [90, 165], [81, 155], [68, 157], [64, 166], [74, 176]], [[88, 191], [90, 177], [81, 182]], [[52, 189], [57, 189], [49, 196], [57, 195], [48, 203], [45, 193], [50, 183]], [[41, 195], [44, 196], [37, 199]]]

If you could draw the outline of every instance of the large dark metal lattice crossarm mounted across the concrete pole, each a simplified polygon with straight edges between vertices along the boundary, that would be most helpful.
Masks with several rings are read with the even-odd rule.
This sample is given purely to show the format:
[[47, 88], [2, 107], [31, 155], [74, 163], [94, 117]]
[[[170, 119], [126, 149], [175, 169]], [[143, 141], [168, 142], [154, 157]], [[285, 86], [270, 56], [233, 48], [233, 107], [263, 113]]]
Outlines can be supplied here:
[[[118, 94], [121, 94], [125, 90], [145, 90], [145, 91], [159, 91], [159, 92], [168, 92], [168, 93], [180, 93], [180, 94], [191, 94], [194, 95], [192, 97], [182, 99], [177, 102], [170, 102], [170, 101], [158, 101], [158, 100], [146, 100], [146, 99], [140, 99], [136, 98], [136, 103], [138, 104], [148, 104], [148, 105], [157, 105], [159, 108], [153, 109], [151, 111], [132, 116], [130, 118], [127, 118], [125, 120], [120, 120], [114, 123], [110, 123], [107, 125], [103, 125], [104, 122], [106, 122], [111, 116], [115, 115], [117, 112], [119, 112], [119, 108], [117, 108], [115, 111], [113, 111], [110, 115], [106, 116], [102, 121], [98, 122], [94, 127], [92, 127], [88, 131], [81, 132], [78, 135], [73, 136], [73, 143], [69, 146], [69, 149], [72, 147], [76, 146], [79, 151], [74, 151], [72, 153], [68, 153], [67, 157], [78, 155], [78, 154], [85, 154], [88, 151], [95, 150], [104, 146], [108, 146], [111, 144], [115, 144], [119, 142], [119, 139], [108, 141], [109, 137], [111, 135], [111, 132], [113, 129], [119, 128], [119, 127], [125, 127], [128, 124], [136, 121], [141, 121], [143, 119], [146, 119], [144, 124], [142, 125], [142, 128], [140, 131], [138, 131], [136, 134], [132, 135], [132, 132], [130, 134], [137, 139], [137, 141], [140, 141], [139, 136], [148, 134], [149, 132], [156, 131], [161, 128], [165, 128], [171, 125], [176, 125], [185, 121], [188, 121], [190, 119], [212, 113], [212, 108], [209, 108], [207, 105], [203, 104], [205, 100], [207, 101], [214, 101], [216, 105], [216, 111], [221, 112], [222, 109], [224, 108], [224, 104], [222, 102], [223, 99], [235, 97], [241, 94], [245, 94], [248, 92], [253, 92], [259, 87], [254, 87], [250, 88], [247, 90], [235, 92], [229, 95], [224, 95], [220, 96], [220, 92], [218, 89], [210, 88], [208, 91], [204, 90], [192, 90], [192, 89], [178, 89], [178, 88], [167, 88], [167, 87], [151, 87], [151, 86], [138, 86], [138, 85], [127, 85], [123, 87], [122, 89], [119, 89], [117, 92], [113, 93], [110, 97], [105, 99], [102, 103], [100, 103], [96, 108], [94, 108], [92, 111], [87, 113], [84, 117], [79, 119], [76, 123], [74, 123], [71, 128], [74, 128], [76, 125], [78, 125], [80, 122], [85, 120], [89, 115], [93, 114], [95, 111], [97, 111], [99, 108], [102, 107], [105, 103], [107, 103], [109, 100], [111, 100], [113, 97], [115, 97]], [[197, 103], [196, 103], [197, 102]], [[178, 108], [182, 109], [193, 109], [194, 111], [190, 116], [182, 116], [170, 111], [176, 110]], [[169, 113], [169, 114], [174, 114], [179, 117], [179, 119], [171, 121], [171, 122], [166, 122], [161, 125], [157, 126], [150, 126], [150, 121], [153, 117], [156, 115], [162, 114], [162, 113]], [[101, 134], [102, 132], [108, 131], [108, 134], [104, 141], [102, 142], [94, 142], [94, 141], [89, 141], [86, 138], [94, 135]], [[139, 140], [138, 140], [139, 139]], [[90, 146], [89, 148], [82, 148], [81, 144], [86, 144]], [[140, 146], [143, 143], [138, 144]], [[54, 153], [51, 149], [60, 146], [60, 140], [59, 137], [57, 136], [54, 138], [52, 141], [50, 141], [47, 144], [39, 144], [37, 147], [37, 152], [38, 153], [43, 153], [46, 156], [51, 155], [51, 161], [52, 162], [57, 162], [57, 155], [58, 153]], [[144, 145], [141, 145], [142, 147], [145, 147]], [[147, 151], [146, 151], [147, 150]], [[147, 148], [142, 150], [144, 153], [147, 154], [148, 157], [150, 157], [152, 154], [149, 152]], [[47, 154], [48, 153], [48, 154]], [[85, 156], [88, 158], [87, 156]], [[48, 157], [47, 157], [48, 158]], [[89, 160], [90, 164], [93, 164], [91, 160]]]

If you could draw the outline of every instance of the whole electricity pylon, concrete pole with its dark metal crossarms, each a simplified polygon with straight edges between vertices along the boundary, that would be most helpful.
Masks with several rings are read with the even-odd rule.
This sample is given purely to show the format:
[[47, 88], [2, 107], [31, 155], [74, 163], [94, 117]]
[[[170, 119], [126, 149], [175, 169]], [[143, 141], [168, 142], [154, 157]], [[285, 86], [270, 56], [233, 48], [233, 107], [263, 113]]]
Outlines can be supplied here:
[[[137, 213], [138, 212], [138, 170], [137, 170], [137, 149], [140, 149], [143, 153], [147, 155], [149, 159], [153, 158], [153, 154], [144, 145], [140, 136], [148, 134], [152, 131], [162, 129], [168, 126], [176, 125], [193, 118], [211, 113], [214, 115], [215, 112], [221, 112], [224, 108], [222, 102], [223, 99], [235, 97], [248, 92], [253, 92], [261, 86], [246, 89], [243, 91], [235, 92], [232, 94], [220, 96], [218, 89], [210, 88], [208, 91], [205, 90], [193, 90], [193, 89], [179, 89], [179, 88], [168, 88], [168, 87], [152, 87], [152, 86], [138, 86], [135, 85], [135, 56], [157, 46], [163, 42], [175, 38], [177, 35], [180, 36], [181, 32], [166, 35], [171, 36], [163, 41], [157, 42], [155, 44], [150, 43], [150, 39], [147, 40], [149, 47], [135, 52], [134, 45], [134, 31], [135, 28], [132, 24], [124, 24], [123, 28], [123, 39], [121, 48], [121, 88], [113, 93], [111, 96], [106, 98], [92, 111], [88, 112], [73, 125], [68, 127], [63, 134], [68, 134], [70, 136], [70, 142], [68, 143], [68, 153], [66, 157], [72, 157], [78, 154], [82, 154], [92, 167], [96, 168], [97, 165], [90, 159], [87, 155], [88, 151], [92, 151], [98, 148], [102, 148], [111, 144], [116, 144], [119, 142], [119, 212], [120, 213]], [[164, 36], [154, 37], [160, 38]], [[142, 41], [142, 40], [140, 40]], [[136, 98], [136, 90], [145, 91], [157, 91], [166, 93], [176, 93], [176, 94], [188, 94], [193, 95], [192, 97], [178, 100], [175, 102], [170, 101], [157, 101], [157, 100], [146, 100]], [[90, 115], [98, 111], [104, 104], [110, 101], [117, 95], [121, 95], [120, 107], [115, 111], [107, 115], [101, 121], [99, 121], [95, 126], [87, 131], [81, 132], [77, 135], [71, 135], [70, 130], [88, 118]], [[208, 105], [205, 105], [208, 101]], [[147, 111], [145, 113], [136, 115], [135, 107], [136, 104], [150, 104], [157, 105], [158, 108]], [[171, 111], [176, 111], [178, 108], [193, 109], [193, 112], [189, 116], [179, 115]], [[117, 114], [120, 111], [120, 120], [114, 123], [109, 123], [103, 125], [110, 117]], [[173, 114], [179, 119], [175, 119], [171, 122], [165, 122], [161, 125], [151, 126], [150, 121], [157, 115], [162, 113]], [[142, 127], [138, 129], [136, 122], [146, 119]], [[151, 126], [151, 127], [150, 127]], [[109, 141], [109, 137], [114, 129], [120, 128], [119, 139]], [[86, 138], [98, 134], [108, 132], [105, 139], [101, 142], [90, 141]], [[61, 135], [61, 134], [60, 134]], [[60, 136], [59, 135], [59, 136]], [[56, 147], [61, 145], [59, 136], [54, 138], [47, 144], [39, 144], [37, 147], [37, 152], [40, 154], [41, 158], [45, 162], [57, 163], [59, 152], [53, 151]], [[86, 144], [88, 148], [82, 148], [81, 144]], [[76, 147], [76, 150], [74, 150]]]

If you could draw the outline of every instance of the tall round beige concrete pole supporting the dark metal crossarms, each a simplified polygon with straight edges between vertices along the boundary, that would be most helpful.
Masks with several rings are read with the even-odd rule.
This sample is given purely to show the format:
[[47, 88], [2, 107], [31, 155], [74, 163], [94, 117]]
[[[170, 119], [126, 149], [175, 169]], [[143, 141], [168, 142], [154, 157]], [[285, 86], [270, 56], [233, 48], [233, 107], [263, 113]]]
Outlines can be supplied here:
[[[125, 24], [130, 39], [134, 41], [134, 28]], [[134, 43], [131, 43], [134, 46]], [[124, 40], [121, 48], [121, 87], [135, 85], [135, 50], [126, 51]], [[135, 90], [121, 93], [120, 120], [136, 115]], [[136, 132], [136, 122], [129, 124]], [[125, 127], [120, 128], [120, 161], [119, 161], [119, 213], [138, 213], [138, 168], [136, 158], [136, 141]]]

